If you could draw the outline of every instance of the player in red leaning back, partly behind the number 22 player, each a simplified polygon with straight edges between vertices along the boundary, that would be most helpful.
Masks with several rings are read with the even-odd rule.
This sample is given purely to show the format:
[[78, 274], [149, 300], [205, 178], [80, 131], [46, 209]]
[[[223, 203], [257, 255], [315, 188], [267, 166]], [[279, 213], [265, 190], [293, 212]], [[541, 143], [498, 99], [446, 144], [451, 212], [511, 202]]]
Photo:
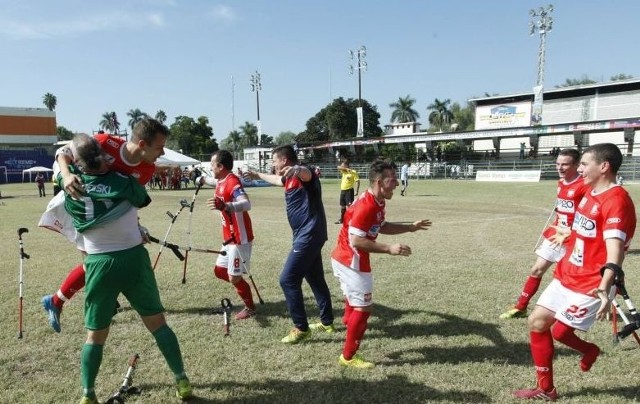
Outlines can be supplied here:
[[578, 203], [588, 191], [578, 174], [580, 165], [580, 153], [575, 149], [563, 149], [556, 159], [556, 171], [558, 180], [558, 192], [556, 198], [556, 218], [552, 226], [547, 227], [542, 233], [542, 245], [536, 249], [538, 258], [531, 267], [531, 272], [522, 288], [520, 297], [512, 309], [500, 315], [500, 318], [522, 318], [527, 316], [529, 301], [536, 294], [542, 282], [542, 276], [556, 262], [564, 256], [566, 249], [563, 246], [554, 245], [550, 238], [556, 233], [555, 227], [571, 228], [575, 209]]

